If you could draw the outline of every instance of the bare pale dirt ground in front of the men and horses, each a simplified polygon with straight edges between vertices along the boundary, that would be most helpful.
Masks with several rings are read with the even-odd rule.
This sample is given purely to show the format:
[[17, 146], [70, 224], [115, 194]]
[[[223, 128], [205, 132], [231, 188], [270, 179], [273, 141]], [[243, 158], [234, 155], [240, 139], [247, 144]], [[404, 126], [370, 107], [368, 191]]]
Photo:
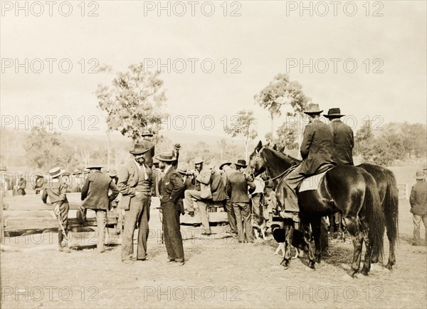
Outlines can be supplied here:
[[368, 277], [349, 278], [352, 244], [342, 242], [330, 243], [331, 256], [316, 271], [305, 259], [285, 271], [271, 238], [189, 239], [178, 266], [153, 237], [148, 260], [132, 265], [120, 261], [120, 246], [102, 254], [2, 252], [1, 308], [426, 308], [427, 247], [411, 246], [408, 201], [399, 208], [393, 272], [376, 266]]

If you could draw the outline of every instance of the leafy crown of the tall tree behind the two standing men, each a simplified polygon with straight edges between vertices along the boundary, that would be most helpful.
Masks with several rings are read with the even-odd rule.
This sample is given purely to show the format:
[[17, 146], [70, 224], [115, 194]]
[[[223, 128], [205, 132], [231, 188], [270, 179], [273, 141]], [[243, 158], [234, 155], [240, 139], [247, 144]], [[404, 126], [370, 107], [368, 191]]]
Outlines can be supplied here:
[[137, 141], [143, 130], [153, 133], [166, 114], [162, 112], [166, 95], [159, 72], [145, 71], [142, 63], [129, 66], [125, 72], [115, 73], [112, 85], [98, 85], [98, 106], [107, 112], [109, 130]]

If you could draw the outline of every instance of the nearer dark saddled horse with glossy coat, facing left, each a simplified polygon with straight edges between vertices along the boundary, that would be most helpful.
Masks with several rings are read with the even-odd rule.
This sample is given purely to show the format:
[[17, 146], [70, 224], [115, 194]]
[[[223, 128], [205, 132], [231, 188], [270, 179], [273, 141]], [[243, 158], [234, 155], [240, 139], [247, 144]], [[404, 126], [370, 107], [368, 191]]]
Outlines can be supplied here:
[[[250, 157], [249, 168], [255, 175], [265, 168], [272, 179], [275, 179], [278, 204], [283, 208], [283, 175], [300, 161], [269, 147], [258, 147]], [[320, 262], [320, 220], [322, 216], [339, 211], [347, 225], [347, 231], [352, 235], [354, 255], [350, 276], [359, 272], [362, 257], [362, 245], [366, 244], [366, 253], [362, 274], [367, 276], [371, 268], [371, 257], [374, 251], [381, 256], [384, 239], [384, 214], [381, 209], [379, 192], [374, 178], [359, 167], [350, 165], [337, 166], [325, 174], [319, 189], [299, 192], [301, 226], [305, 241], [309, 248], [310, 268], [315, 268], [315, 262]], [[311, 229], [310, 229], [311, 226]], [[292, 228], [289, 229], [292, 237]], [[282, 265], [288, 268], [290, 263], [290, 243], [285, 241], [285, 256]]]

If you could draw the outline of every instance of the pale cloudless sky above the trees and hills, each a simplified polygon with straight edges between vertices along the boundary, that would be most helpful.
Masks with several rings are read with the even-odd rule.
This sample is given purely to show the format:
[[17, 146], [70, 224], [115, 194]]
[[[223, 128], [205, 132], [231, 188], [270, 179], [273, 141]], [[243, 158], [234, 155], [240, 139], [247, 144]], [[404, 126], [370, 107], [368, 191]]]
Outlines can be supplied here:
[[[225, 117], [230, 119], [238, 110], [247, 109], [255, 111], [258, 136], [263, 137], [270, 130], [270, 120], [268, 112], [254, 104], [253, 96], [278, 73], [288, 73], [291, 80], [301, 83], [305, 94], [325, 112], [339, 107], [345, 115], [354, 116], [357, 127], [367, 117], [375, 116], [379, 125], [426, 123], [426, 1], [370, 2], [369, 12], [367, 1], [356, 1], [354, 16], [347, 16], [352, 14], [351, 6], [343, 9], [349, 1], [339, 2], [337, 16], [332, 5], [327, 7], [326, 16], [319, 16], [324, 14], [325, 7], [310, 1], [305, 5], [311, 3], [313, 16], [310, 11], [300, 12], [300, 1], [228, 2], [227, 16], [223, 16], [223, 1], [213, 2], [212, 16], [205, 16], [210, 11], [206, 1], [197, 1], [195, 16], [191, 16], [188, 1], [179, 5], [162, 2], [163, 6], [170, 6], [171, 16], [167, 16], [167, 11], [158, 14], [157, 8], [144, 11], [144, 6], [157, 6], [158, 1], [93, 1], [85, 3], [85, 16], [81, 16], [80, 2], [71, 1], [70, 16], [60, 15], [61, 1], [53, 6], [53, 16], [49, 16], [47, 4], [41, 16], [32, 16], [40, 14], [41, 8], [31, 7], [28, 2], [25, 16], [25, 10], [15, 11], [15, 1], [2, 1], [2, 129], [16, 125], [5, 125], [11, 117], [24, 120], [25, 115], [30, 119], [35, 115], [44, 119], [46, 115], [56, 115], [68, 116], [73, 121], [70, 132], [104, 132], [105, 121], [97, 108], [95, 90], [98, 83], [107, 83], [111, 77], [88, 73], [96, 64], [89, 63], [90, 59], [116, 70], [144, 60], [154, 59], [159, 64], [170, 59], [171, 73], [162, 73], [168, 99], [166, 111], [172, 117], [187, 119], [184, 132], [199, 135], [223, 135]], [[174, 16], [181, 13], [181, 4], [186, 7], [186, 14]], [[298, 7], [290, 11], [295, 8], [292, 6]], [[66, 14], [68, 8], [62, 6], [61, 10]], [[87, 16], [91, 10], [99, 16]], [[241, 16], [230, 16], [233, 10]], [[375, 12], [383, 16], [372, 16]], [[40, 62], [34, 61], [37, 58], [42, 59], [43, 70], [39, 68]], [[53, 73], [49, 73], [46, 58], [56, 59]], [[189, 58], [198, 59], [194, 73]], [[61, 59], [72, 63], [70, 73], [60, 72]], [[80, 59], [86, 63], [83, 73]], [[184, 59], [184, 73], [174, 71], [174, 61], [176, 70], [181, 69], [176, 59]], [[213, 73], [202, 70], [204, 59], [215, 64]], [[223, 59], [228, 63], [226, 73]], [[233, 59], [237, 61], [232, 62]], [[301, 60], [308, 65], [302, 67], [302, 73]], [[23, 66], [16, 66], [18, 63]], [[353, 63], [357, 63], [357, 68], [349, 73]], [[236, 65], [241, 73], [230, 73]], [[63, 68], [67, 69], [66, 62]], [[204, 68], [210, 68], [209, 62]], [[373, 73], [375, 69], [383, 73]], [[91, 115], [100, 121], [94, 124], [94, 118], [89, 119]], [[192, 115], [199, 116], [195, 130], [191, 130]], [[204, 116], [215, 120], [214, 125], [208, 118], [204, 122], [205, 128], [212, 130], [202, 127], [200, 119]], [[276, 127], [283, 120], [276, 121]], [[176, 125], [181, 126], [180, 121]], [[58, 120], [53, 123], [58, 127]], [[88, 130], [91, 123], [99, 130]], [[62, 125], [68, 127], [68, 122]]]

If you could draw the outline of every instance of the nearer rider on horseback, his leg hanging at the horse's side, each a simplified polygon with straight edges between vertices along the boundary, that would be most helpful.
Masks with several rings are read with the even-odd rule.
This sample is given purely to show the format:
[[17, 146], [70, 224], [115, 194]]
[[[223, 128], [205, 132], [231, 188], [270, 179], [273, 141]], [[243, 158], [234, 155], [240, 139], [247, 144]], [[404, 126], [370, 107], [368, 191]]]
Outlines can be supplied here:
[[278, 199], [284, 201], [281, 204], [285, 206], [285, 211], [300, 211], [295, 189], [305, 177], [335, 163], [334, 135], [332, 128], [319, 119], [322, 111], [317, 104], [308, 105], [305, 111], [310, 117], [310, 123], [305, 127], [300, 147], [302, 162], [285, 176], [285, 186], [277, 193]]

